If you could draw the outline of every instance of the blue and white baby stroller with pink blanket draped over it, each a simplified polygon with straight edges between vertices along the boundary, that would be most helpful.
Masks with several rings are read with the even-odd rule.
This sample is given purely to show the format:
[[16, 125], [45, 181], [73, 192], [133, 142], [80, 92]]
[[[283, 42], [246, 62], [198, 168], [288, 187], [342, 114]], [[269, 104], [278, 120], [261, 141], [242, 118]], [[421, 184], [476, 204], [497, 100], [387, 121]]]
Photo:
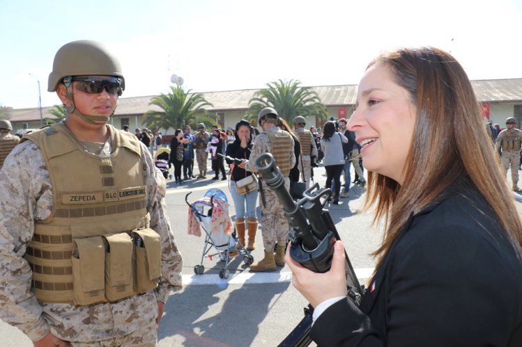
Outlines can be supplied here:
[[[192, 193], [192, 192], [190, 192]], [[203, 254], [198, 265], [194, 266], [196, 275], [203, 275], [205, 267], [203, 260], [205, 257], [212, 260], [213, 257], [220, 257], [224, 261], [224, 266], [220, 270], [220, 278], [229, 278], [230, 271], [227, 269], [231, 259], [231, 252], [238, 252], [243, 256], [243, 262], [250, 265], [254, 262], [254, 257], [246, 250], [244, 245], [240, 245], [237, 240], [236, 230], [233, 227], [232, 220], [228, 216], [229, 202], [227, 195], [220, 189], [210, 188], [206, 191], [204, 197], [199, 200], [188, 202], [188, 196], [185, 195], [185, 202], [189, 206], [189, 234], [200, 236], [199, 227], [205, 232], [205, 243]], [[197, 225], [194, 225], [197, 223]], [[198, 234], [199, 232], [199, 234]], [[210, 253], [210, 250], [215, 252]]]

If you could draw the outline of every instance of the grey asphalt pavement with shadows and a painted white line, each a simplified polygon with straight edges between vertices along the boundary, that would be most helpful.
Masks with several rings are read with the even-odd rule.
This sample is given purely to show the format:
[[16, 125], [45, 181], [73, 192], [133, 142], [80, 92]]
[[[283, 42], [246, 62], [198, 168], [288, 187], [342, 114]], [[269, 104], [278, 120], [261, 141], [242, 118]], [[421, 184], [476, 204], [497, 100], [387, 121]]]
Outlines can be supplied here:
[[[197, 172], [197, 170], [195, 170]], [[353, 174], [353, 172], [352, 172]], [[211, 177], [211, 175], [208, 175]], [[352, 175], [353, 177], [353, 175]], [[323, 167], [314, 169], [314, 179], [324, 185]], [[220, 278], [224, 262], [219, 257], [205, 257], [203, 275], [194, 274], [201, 264], [204, 236], [187, 234], [189, 202], [199, 199], [209, 188], [220, 188], [229, 198], [231, 216], [233, 200], [228, 181], [191, 179], [176, 186], [167, 180], [167, 213], [183, 255], [183, 289], [172, 293], [158, 331], [158, 346], [277, 346], [302, 318], [307, 305], [291, 284], [287, 266], [273, 273], [250, 273], [242, 257], [229, 264], [229, 278]], [[330, 211], [346, 251], [361, 283], [371, 275], [375, 261], [371, 252], [381, 243], [382, 227], [372, 225], [371, 211], [360, 211], [365, 190], [352, 186], [350, 197], [341, 204], [325, 206]], [[522, 214], [522, 196], [514, 194]], [[256, 237], [254, 261], [263, 257], [261, 232]], [[19, 330], [0, 321], [1, 346], [32, 346]], [[314, 346], [312, 344], [312, 346]]]

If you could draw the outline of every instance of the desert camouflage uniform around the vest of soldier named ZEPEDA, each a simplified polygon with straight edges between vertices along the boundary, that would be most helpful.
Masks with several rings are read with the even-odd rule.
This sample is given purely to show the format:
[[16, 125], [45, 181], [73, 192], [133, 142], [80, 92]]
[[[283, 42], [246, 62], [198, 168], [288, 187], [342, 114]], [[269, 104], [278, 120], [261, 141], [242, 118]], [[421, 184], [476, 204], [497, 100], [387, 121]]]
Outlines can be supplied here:
[[[105, 153], [110, 151], [109, 141]], [[26, 141], [17, 145], [0, 171], [0, 318], [31, 340], [38, 341], [52, 332], [66, 341], [105, 346], [116, 344], [155, 346], [157, 301], [167, 302], [170, 291], [181, 289], [181, 254], [171, 232], [164, 202], [163, 177], [155, 169], [148, 149], [144, 153], [151, 228], [161, 236], [162, 278], [157, 289], [116, 302], [88, 306], [38, 302], [31, 292], [32, 272], [23, 258], [33, 238], [36, 220], [52, 213], [53, 196], [49, 172], [40, 149]], [[133, 334], [134, 332], [139, 332]], [[144, 341], [139, 343], [139, 341]]]

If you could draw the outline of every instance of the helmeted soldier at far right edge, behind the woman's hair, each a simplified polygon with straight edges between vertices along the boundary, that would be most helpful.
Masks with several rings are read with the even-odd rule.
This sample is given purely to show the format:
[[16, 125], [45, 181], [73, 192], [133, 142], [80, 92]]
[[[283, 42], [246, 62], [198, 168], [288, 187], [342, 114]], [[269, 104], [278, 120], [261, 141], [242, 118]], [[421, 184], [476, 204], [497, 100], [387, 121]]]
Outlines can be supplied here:
[[506, 119], [506, 129], [500, 131], [495, 140], [495, 150], [500, 153], [500, 160], [507, 176], [507, 170], [511, 168], [513, 191], [520, 192], [519, 168], [522, 144], [522, 130], [516, 129], [516, 119]]

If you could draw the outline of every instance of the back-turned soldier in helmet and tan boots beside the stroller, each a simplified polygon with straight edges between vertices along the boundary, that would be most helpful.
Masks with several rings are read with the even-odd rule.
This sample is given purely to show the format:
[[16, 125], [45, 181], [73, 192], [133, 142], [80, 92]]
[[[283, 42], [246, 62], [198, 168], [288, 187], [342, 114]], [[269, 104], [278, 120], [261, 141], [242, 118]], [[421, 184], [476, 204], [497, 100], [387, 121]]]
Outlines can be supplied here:
[[[250, 158], [243, 159], [240, 168], [256, 172], [254, 162], [263, 153], [271, 153], [275, 163], [284, 177], [284, 186], [290, 188], [289, 173], [295, 166], [295, 154], [293, 153], [293, 138], [277, 127], [279, 115], [272, 107], [266, 107], [259, 112], [257, 123], [263, 132], [256, 136]], [[265, 257], [256, 264], [250, 266], [250, 271], [275, 271], [277, 266], [284, 266], [284, 249], [289, 233], [289, 223], [284, 216], [282, 204], [275, 193], [268, 188], [261, 177], [259, 209], [261, 209], [261, 234], [263, 235], [263, 247]], [[277, 243], [274, 255], [275, 244]]]

